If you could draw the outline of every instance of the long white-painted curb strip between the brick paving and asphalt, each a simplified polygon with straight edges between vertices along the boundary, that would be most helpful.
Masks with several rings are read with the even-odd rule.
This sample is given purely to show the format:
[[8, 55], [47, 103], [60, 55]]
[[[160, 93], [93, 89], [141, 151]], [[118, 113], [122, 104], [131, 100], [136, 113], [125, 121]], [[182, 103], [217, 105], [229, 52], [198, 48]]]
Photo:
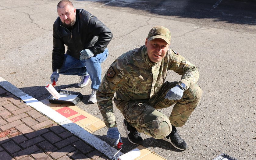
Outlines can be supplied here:
[[[78, 126], [77, 124], [71, 122], [66, 117], [62, 116], [60, 113], [56, 112], [52, 108], [44, 105], [42, 102], [38, 101], [37, 99], [31, 97], [30, 95], [24, 93], [19, 88], [15, 87], [5, 79], [0, 76], [0, 86], [5, 88], [7, 91], [15, 95], [16, 97], [21, 98], [27, 105], [35, 108], [37, 111], [43, 113], [45, 116], [48, 116], [50, 119], [59, 123], [62, 127], [69, 130], [71, 133], [76, 135], [77, 137], [84, 140], [87, 144], [90, 144], [96, 150], [100, 151], [108, 158], [113, 159], [114, 154], [117, 150], [111, 147], [109, 144], [104, 142], [103, 140], [99, 139], [98, 137], [94, 136], [93, 134], [89, 133], [87, 130], [84, 130], [82, 127]], [[118, 156], [123, 155], [122, 152], [118, 152]]]

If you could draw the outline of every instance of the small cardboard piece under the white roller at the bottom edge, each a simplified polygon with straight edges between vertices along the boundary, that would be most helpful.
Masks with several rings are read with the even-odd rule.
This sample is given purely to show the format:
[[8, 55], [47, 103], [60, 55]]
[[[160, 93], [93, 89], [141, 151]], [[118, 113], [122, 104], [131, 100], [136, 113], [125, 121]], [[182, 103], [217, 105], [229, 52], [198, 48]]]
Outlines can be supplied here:
[[147, 148], [139, 145], [136, 147], [140, 150], [140, 156], [135, 158], [134, 160], [167, 160], [160, 155], [156, 154], [153, 151], [148, 150]]

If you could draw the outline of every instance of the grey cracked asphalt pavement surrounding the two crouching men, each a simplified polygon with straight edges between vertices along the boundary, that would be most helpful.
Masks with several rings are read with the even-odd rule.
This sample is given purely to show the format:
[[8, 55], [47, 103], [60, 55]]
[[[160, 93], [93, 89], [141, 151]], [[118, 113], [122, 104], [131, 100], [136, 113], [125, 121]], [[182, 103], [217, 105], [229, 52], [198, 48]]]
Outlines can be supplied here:
[[[0, 76], [38, 101], [49, 96], [44, 87], [52, 73], [52, 25], [58, 2], [0, 0]], [[186, 125], [178, 129], [189, 148], [178, 151], [142, 134], [144, 147], [168, 160], [214, 159], [222, 153], [239, 160], [256, 159], [255, 0], [72, 2], [75, 8], [97, 16], [113, 33], [102, 76], [119, 55], [144, 45], [155, 25], [169, 28], [170, 48], [199, 68], [203, 96]], [[166, 78], [179, 79], [172, 71]], [[61, 75], [56, 89], [82, 93], [84, 98], [77, 106], [102, 119], [97, 104], [88, 103], [91, 83], [79, 88], [78, 82], [79, 76]], [[136, 145], [127, 140], [123, 116], [114, 109], [126, 153]], [[171, 110], [161, 112], [169, 116]], [[106, 132], [104, 127], [93, 135], [109, 144]]]

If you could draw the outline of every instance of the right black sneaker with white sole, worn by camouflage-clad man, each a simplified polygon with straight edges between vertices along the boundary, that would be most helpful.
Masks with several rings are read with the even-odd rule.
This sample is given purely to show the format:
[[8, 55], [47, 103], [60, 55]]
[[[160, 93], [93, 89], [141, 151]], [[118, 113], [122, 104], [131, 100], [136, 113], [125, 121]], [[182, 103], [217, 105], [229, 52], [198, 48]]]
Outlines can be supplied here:
[[162, 140], [171, 143], [173, 147], [179, 150], [185, 150], [187, 148], [186, 142], [180, 137], [175, 127], [172, 128], [172, 132], [165, 138], [162, 138]]

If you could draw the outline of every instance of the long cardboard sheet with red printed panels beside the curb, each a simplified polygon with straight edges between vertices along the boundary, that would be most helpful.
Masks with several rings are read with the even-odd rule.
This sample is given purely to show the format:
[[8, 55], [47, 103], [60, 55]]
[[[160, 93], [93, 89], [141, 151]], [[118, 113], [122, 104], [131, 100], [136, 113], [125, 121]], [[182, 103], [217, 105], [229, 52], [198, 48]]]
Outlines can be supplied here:
[[41, 102], [90, 133], [105, 127], [105, 123], [101, 119], [92, 116], [78, 108], [76, 105], [67, 103], [53, 104], [47, 99], [44, 99]]

